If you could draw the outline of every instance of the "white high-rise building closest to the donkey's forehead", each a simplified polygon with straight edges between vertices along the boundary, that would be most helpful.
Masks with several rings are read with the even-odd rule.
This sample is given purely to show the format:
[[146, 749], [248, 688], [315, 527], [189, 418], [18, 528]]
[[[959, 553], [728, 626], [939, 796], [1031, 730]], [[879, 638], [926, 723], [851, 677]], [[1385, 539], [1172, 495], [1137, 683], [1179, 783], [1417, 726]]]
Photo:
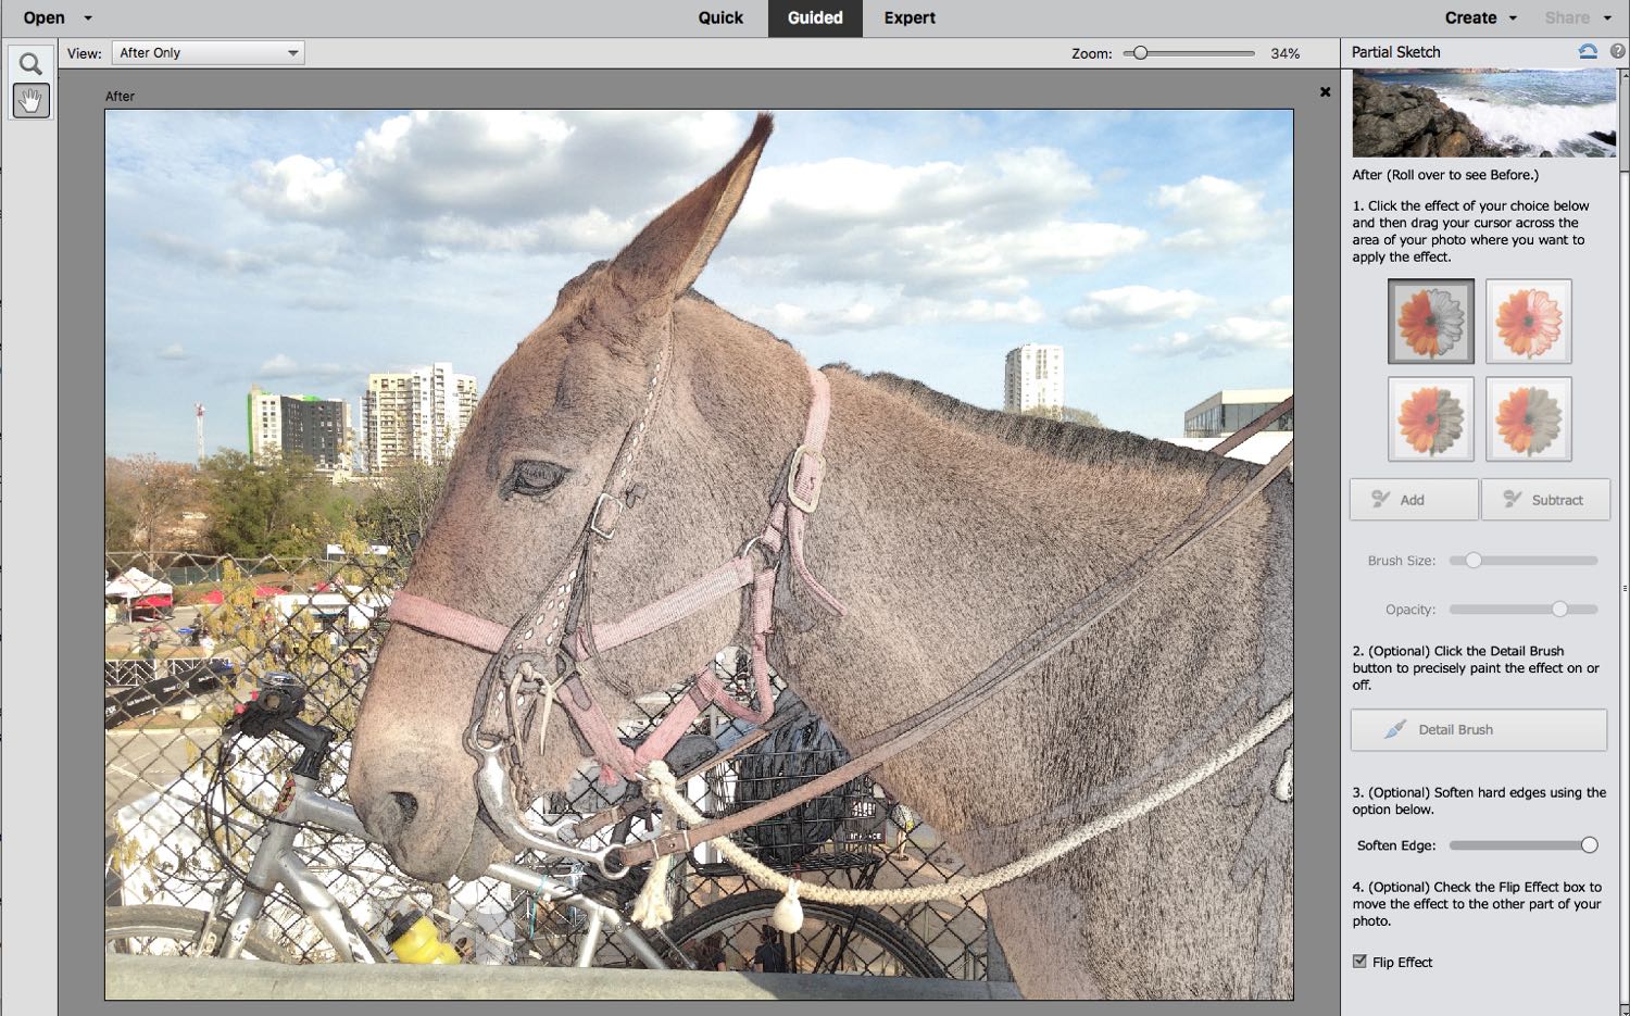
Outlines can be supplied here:
[[401, 373], [370, 373], [362, 396], [362, 447], [368, 473], [409, 460], [447, 462], [476, 411], [476, 378], [430, 364]]

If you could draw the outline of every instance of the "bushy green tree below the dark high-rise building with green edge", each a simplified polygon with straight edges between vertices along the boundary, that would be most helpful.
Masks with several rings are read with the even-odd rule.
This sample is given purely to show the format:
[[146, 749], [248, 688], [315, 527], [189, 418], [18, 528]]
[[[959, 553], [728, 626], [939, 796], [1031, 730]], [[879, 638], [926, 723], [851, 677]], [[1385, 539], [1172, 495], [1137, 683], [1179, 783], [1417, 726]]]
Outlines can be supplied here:
[[256, 465], [238, 450], [205, 460], [210, 543], [235, 558], [308, 556], [315, 548], [300, 527], [341, 528], [350, 497], [318, 473], [305, 455]]

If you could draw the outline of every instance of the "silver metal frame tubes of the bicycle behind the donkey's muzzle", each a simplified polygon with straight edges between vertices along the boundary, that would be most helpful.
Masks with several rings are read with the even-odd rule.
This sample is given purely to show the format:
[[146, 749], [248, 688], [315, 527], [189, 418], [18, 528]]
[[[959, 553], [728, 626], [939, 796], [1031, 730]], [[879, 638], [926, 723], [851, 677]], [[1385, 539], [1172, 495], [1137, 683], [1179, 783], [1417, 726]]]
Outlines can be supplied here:
[[[305, 825], [318, 825], [333, 832], [373, 842], [362, 820], [350, 806], [331, 801], [319, 789], [311, 776], [290, 776], [293, 793], [287, 802], [267, 820], [261, 830], [261, 843], [249, 864], [249, 877], [243, 887], [243, 897], [227, 925], [227, 939], [222, 944], [222, 956], [236, 959], [243, 952], [243, 943], [249, 938], [249, 930], [266, 908], [266, 900], [277, 886], [284, 886], [293, 895], [316, 930], [323, 934], [334, 954], [342, 962], [372, 964], [381, 962], [375, 949], [359, 936], [346, 921], [346, 912], [318, 879], [300, 855], [293, 850], [295, 833]], [[531, 892], [541, 899], [570, 903], [588, 915], [588, 930], [584, 944], [577, 951], [579, 967], [588, 967], [600, 949], [603, 936], [610, 934], [621, 941], [652, 970], [667, 970], [668, 964], [652, 948], [645, 936], [623, 915], [592, 900], [570, 886], [551, 879], [546, 874], [528, 871], [512, 863], [497, 863], [487, 868], [487, 876], [507, 886]]]

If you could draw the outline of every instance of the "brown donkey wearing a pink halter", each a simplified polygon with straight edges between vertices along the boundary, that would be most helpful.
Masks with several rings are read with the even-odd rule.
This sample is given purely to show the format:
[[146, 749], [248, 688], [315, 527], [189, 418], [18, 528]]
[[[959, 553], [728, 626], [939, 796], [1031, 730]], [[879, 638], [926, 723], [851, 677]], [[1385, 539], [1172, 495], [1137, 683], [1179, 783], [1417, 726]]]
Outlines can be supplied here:
[[[492, 377], [453, 457], [406, 590], [505, 628], [574, 546], [672, 349], [641, 488], [595, 579], [595, 616], [681, 587], [756, 533], [810, 404], [787, 342], [691, 289], [771, 132], [569, 282]], [[668, 329], [665, 334], [663, 329]], [[949, 695], [1012, 643], [1227, 497], [1255, 466], [1131, 434], [989, 413], [890, 375], [823, 369], [826, 483], [805, 541], [828, 615], [794, 584], [776, 664], [854, 744]], [[802, 618], [802, 621], [800, 621]], [[738, 641], [734, 599], [603, 654], [616, 719]], [[404, 625], [368, 682], [349, 778], [408, 872], [474, 877], [509, 851], [478, 815], [463, 747], [487, 654]], [[1239, 737], [1291, 691], [1291, 484], [1165, 563], [1042, 669], [879, 773], [973, 871], [1130, 802]], [[556, 709], [530, 788], [585, 762]], [[1286, 998], [1291, 806], [1281, 727], [1182, 797], [991, 890], [1029, 998]]]

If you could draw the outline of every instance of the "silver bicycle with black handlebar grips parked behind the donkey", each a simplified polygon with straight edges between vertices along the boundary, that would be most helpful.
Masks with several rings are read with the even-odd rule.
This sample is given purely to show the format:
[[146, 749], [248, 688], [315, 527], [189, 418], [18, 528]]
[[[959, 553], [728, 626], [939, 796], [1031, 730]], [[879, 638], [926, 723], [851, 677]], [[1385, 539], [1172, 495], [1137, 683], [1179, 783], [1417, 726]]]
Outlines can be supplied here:
[[[106, 907], [103, 925], [106, 951], [295, 962], [277, 941], [258, 928], [267, 902], [279, 894], [282, 902], [290, 903], [315, 926], [339, 962], [399, 962], [380, 926], [365, 926], [365, 921], [359, 921], [342, 907], [295, 850], [297, 835], [306, 827], [372, 842], [355, 811], [319, 789], [318, 776], [328, 762], [336, 734], [300, 719], [303, 698], [305, 687], [293, 675], [266, 674], [259, 691], [240, 706], [240, 713], [228, 726], [228, 732], [256, 740], [279, 734], [300, 749], [277, 804], [261, 828], [256, 830], [230, 815], [222, 817], [228, 825], [259, 837], [249, 866], [238, 869], [218, 846], [215, 828], [210, 827], [209, 843], [233, 876], [215, 889], [210, 910], [163, 903]], [[228, 770], [225, 752], [233, 739], [223, 739], [222, 765], [215, 770], [215, 780], [222, 786], [227, 783]], [[207, 817], [210, 814], [205, 811]], [[738, 943], [756, 944], [758, 926], [769, 920], [771, 910], [781, 899], [781, 894], [769, 890], [732, 895], [686, 913], [659, 930], [654, 938], [647, 938], [626, 917], [639, 887], [629, 886], [628, 879], [588, 877], [584, 881], [587, 887], [574, 887], [551, 874], [513, 863], [491, 864], [486, 876], [518, 889], [528, 903], [548, 902], [554, 905], [556, 913], [569, 915], [567, 931], [570, 936], [580, 936], [572, 957], [577, 967], [593, 965], [601, 946], [616, 941], [624, 956], [631, 956], [647, 969], [694, 969], [689, 957], [696, 943], [714, 933], [722, 933], [727, 944], [738, 952], [742, 951]], [[241, 892], [236, 907], [227, 917], [225, 900], [233, 884]], [[597, 899], [605, 895], [613, 902]], [[947, 977], [932, 952], [875, 910], [808, 902], [804, 915], [805, 926], [786, 943], [789, 969], [794, 972]], [[479, 933], [496, 938], [486, 931]], [[463, 946], [460, 952], [468, 957], [473, 951], [468, 936], [460, 944]], [[536, 946], [535, 931], [509, 944], [515, 946], [512, 962], [554, 959], [554, 951]]]

